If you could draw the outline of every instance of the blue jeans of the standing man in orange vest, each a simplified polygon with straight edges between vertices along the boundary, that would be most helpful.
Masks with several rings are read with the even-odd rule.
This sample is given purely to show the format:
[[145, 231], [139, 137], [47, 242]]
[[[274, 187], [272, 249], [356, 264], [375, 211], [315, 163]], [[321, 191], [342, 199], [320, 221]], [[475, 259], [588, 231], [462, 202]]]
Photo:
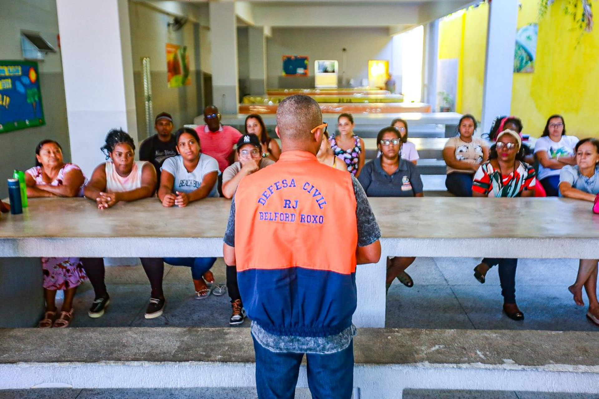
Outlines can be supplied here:
[[[252, 337], [253, 338], [253, 337]], [[254, 339], [259, 399], [293, 399], [304, 354], [271, 352]], [[305, 354], [308, 386], [314, 399], [349, 399], [353, 388], [353, 340], [343, 351]]]

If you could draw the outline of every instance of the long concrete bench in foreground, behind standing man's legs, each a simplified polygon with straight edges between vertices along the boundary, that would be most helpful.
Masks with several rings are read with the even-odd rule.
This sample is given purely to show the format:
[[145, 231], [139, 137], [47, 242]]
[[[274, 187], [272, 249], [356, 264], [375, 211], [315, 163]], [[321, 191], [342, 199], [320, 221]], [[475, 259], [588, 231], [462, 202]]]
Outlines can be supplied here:
[[[255, 386], [249, 328], [4, 329], [0, 345], [0, 389]], [[354, 399], [407, 388], [597, 394], [598, 346], [598, 333], [574, 331], [364, 328]]]

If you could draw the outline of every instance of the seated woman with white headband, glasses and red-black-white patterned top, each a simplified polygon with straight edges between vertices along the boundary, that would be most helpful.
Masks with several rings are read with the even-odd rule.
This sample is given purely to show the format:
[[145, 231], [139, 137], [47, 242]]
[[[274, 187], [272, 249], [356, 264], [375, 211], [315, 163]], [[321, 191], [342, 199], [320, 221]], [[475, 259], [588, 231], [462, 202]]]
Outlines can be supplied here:
[[[522, 139], [514, 130], [504, 130], [497, 136], [497, 147], [491, 150], [489, 161], [480, 165], [474, 175], [474, 197], [532, 197], [534, 194], [534, 168], [522, 162]], [[506, 209], [509, 213], [509, 209]], [[524, 313], [516, 304], [516, 266], [518, 259], [484, 258], [474, 267], [474, 278], [485, 282], [486, 273], [499, 265], [503, 311], [513, 320], [524, 320]]]

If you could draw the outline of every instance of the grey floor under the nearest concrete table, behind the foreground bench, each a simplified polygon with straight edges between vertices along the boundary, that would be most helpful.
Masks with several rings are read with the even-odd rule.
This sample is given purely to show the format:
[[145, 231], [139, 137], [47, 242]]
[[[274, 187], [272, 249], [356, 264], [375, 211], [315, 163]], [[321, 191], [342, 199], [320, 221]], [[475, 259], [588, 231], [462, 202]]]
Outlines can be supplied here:
[[[577, 260], [519, 260], [516, 299], [525, 314], [522, 322], [512, 321], [501, 312], [496, 268], [489, 271], [485, 284], [473, 278], [472, 269], [479, 261], [417, 258], [407, 269], [414, 287], [404, 287], [396, 280], [389, 289], [386, 327], [599, 331], [585, 318], [586, 307], [576, 306], [567, 290], [576, 277]], [[225, 282], [222, 259], [217, 260], [213, 272], [217, 281]], [[361, 272], [367, 270], [358, 269]], [[83, 284], [75, 297], [73, 327], [228, 327], [228, 295], [193, 299], [187, 267], [165, 265], [167, 305], [164, 315], [152, 320], [144, 319], [150, 288], [140, 266], [107, 267], [106, 280], [111, 304], [105, 315], [99, 319], [87, 316], [93, 290], [89, 283]], [[249, 321], [239, 327], [249, 327]]]

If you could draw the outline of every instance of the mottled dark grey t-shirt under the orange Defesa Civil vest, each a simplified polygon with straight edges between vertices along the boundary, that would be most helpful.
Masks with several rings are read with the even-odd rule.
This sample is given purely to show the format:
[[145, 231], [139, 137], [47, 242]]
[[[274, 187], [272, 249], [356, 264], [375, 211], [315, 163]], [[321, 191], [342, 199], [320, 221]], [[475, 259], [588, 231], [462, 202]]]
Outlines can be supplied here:
[[[379, 224], [374, 218], [364, 189], [352, 175], [353, 193], [356, 196], [356, 221], [358, 222], [358, 246], [367, 246], [380, 239]], [[235, 197], [231, 202], [231, 212], [227, 223], [226, 245], [235, 246]], [[273, 352], [296, 352], [312, 354], [332, 354], [343, 351], [356, 335], [355, 325], [350, 325], [339, 334], [328, 337], [277, 336], [268, 333], [258, 324], [252, 323], [252, 335], [264, 348]]]

